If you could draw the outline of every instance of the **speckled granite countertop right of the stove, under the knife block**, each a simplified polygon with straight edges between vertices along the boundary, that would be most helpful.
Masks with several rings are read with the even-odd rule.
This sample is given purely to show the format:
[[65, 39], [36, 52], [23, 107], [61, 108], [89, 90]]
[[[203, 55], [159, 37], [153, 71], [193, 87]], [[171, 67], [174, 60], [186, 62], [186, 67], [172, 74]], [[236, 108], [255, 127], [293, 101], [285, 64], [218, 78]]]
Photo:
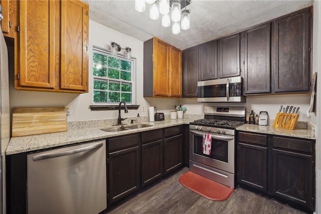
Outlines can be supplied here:
[[311, 128], [308, 128], [308, 129], [295, 128], [294, 130], [287, 130], [287, 129], [274, 128], [273, 126], [259, 126], [259, 125], [252, 125], [252, 124], [244, 124], [242, 126], [237, 127], [236, 130], [315, 140], [315, 131], [314, 129], [311, 129]]

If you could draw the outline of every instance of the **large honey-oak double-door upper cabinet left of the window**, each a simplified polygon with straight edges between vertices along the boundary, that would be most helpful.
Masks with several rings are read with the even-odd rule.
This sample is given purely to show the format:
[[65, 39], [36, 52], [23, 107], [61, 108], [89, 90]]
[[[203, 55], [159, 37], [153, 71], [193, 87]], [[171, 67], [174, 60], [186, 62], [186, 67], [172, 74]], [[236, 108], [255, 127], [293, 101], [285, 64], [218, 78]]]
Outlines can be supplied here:
[[81, 1], [19, 1], [20, 90], [88, 92], [88, 10]]

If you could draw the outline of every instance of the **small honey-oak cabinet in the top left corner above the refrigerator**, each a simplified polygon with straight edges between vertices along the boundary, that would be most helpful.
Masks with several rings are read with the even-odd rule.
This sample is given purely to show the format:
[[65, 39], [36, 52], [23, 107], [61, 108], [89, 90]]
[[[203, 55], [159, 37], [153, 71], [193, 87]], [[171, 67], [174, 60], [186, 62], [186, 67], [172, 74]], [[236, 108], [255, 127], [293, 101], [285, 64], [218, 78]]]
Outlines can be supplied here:
[[1, 21], [1, 28], [4, 36], [16, 38], [17, 26], [17, 1], [1, 0], [0, 4], [3, 8], [3, 20]]

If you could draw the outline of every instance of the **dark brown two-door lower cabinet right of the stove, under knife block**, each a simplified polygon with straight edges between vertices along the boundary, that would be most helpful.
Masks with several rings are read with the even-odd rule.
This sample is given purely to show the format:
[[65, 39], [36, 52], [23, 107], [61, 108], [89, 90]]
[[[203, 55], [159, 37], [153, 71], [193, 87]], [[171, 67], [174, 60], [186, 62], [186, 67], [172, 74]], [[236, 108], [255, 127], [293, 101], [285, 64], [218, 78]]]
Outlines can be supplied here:
[[237, 133], [238, 184], [304, 211], [314, 210], [315, 140]]

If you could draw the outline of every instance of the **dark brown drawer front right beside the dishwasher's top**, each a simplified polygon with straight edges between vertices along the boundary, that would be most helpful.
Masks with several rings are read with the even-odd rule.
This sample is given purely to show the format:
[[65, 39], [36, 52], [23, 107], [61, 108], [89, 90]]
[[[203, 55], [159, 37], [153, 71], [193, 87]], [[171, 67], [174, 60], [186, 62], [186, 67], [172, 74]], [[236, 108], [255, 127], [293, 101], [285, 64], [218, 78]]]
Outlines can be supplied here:
[[139, 134], [127, 135], [108, 140], [108, 152], [130, 148], [139, 144]]

